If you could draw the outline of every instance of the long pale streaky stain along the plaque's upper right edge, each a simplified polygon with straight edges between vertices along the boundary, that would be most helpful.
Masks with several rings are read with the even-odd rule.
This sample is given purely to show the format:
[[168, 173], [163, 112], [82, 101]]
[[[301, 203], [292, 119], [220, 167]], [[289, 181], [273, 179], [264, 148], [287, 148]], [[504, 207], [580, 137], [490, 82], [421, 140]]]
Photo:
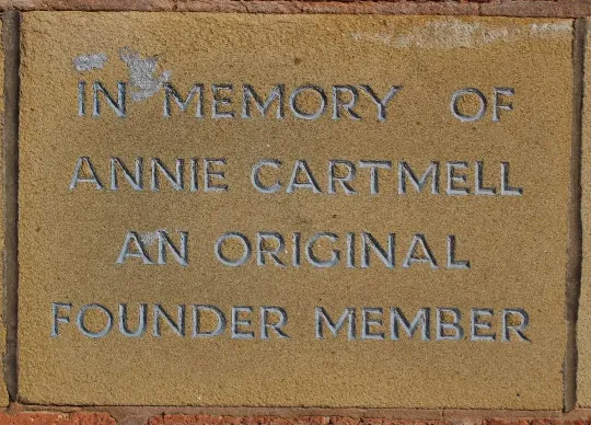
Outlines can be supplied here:
[[351, 34], [351, 38], [403, 48], [471, 48], [493, 43], [510, 43], [521, 36], [554, 38], [571, 32], [572, 26], [568, 21], [497, 26], [450, 18], [427, 22], [402, 35], [357, 32]]

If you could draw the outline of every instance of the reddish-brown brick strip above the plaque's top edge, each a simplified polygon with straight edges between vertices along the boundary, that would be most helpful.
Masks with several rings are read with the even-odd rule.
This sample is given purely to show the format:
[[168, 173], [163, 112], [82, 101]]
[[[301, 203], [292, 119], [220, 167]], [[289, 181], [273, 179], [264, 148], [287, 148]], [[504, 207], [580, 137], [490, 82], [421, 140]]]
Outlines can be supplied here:
[[0, 10], [389, 13], [583, 18], [589, 0], [0, 0]]

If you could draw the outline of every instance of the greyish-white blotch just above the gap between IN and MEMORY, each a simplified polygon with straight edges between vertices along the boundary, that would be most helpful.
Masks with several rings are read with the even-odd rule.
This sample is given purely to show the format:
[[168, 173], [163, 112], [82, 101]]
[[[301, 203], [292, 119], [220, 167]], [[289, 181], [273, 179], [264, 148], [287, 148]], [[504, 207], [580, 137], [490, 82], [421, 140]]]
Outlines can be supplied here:
[[129, 71], [129, 95], [132, 101], [141, 102], [153, 96], [162, 88], [164, 82], [170, 81], [172, 72], [158, 72], [158, 58], [142, 57], [139, 51], [129, 47], [119, 50], [119, 57], [127, 65]]

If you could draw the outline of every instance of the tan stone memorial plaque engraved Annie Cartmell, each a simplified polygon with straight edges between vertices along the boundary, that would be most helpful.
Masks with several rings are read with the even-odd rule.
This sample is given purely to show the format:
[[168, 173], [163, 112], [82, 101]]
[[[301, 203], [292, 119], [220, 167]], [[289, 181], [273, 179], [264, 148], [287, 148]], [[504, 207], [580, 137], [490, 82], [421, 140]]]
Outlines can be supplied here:
[[22, 400], [561, 409], [571, 38], [24, 13]]

